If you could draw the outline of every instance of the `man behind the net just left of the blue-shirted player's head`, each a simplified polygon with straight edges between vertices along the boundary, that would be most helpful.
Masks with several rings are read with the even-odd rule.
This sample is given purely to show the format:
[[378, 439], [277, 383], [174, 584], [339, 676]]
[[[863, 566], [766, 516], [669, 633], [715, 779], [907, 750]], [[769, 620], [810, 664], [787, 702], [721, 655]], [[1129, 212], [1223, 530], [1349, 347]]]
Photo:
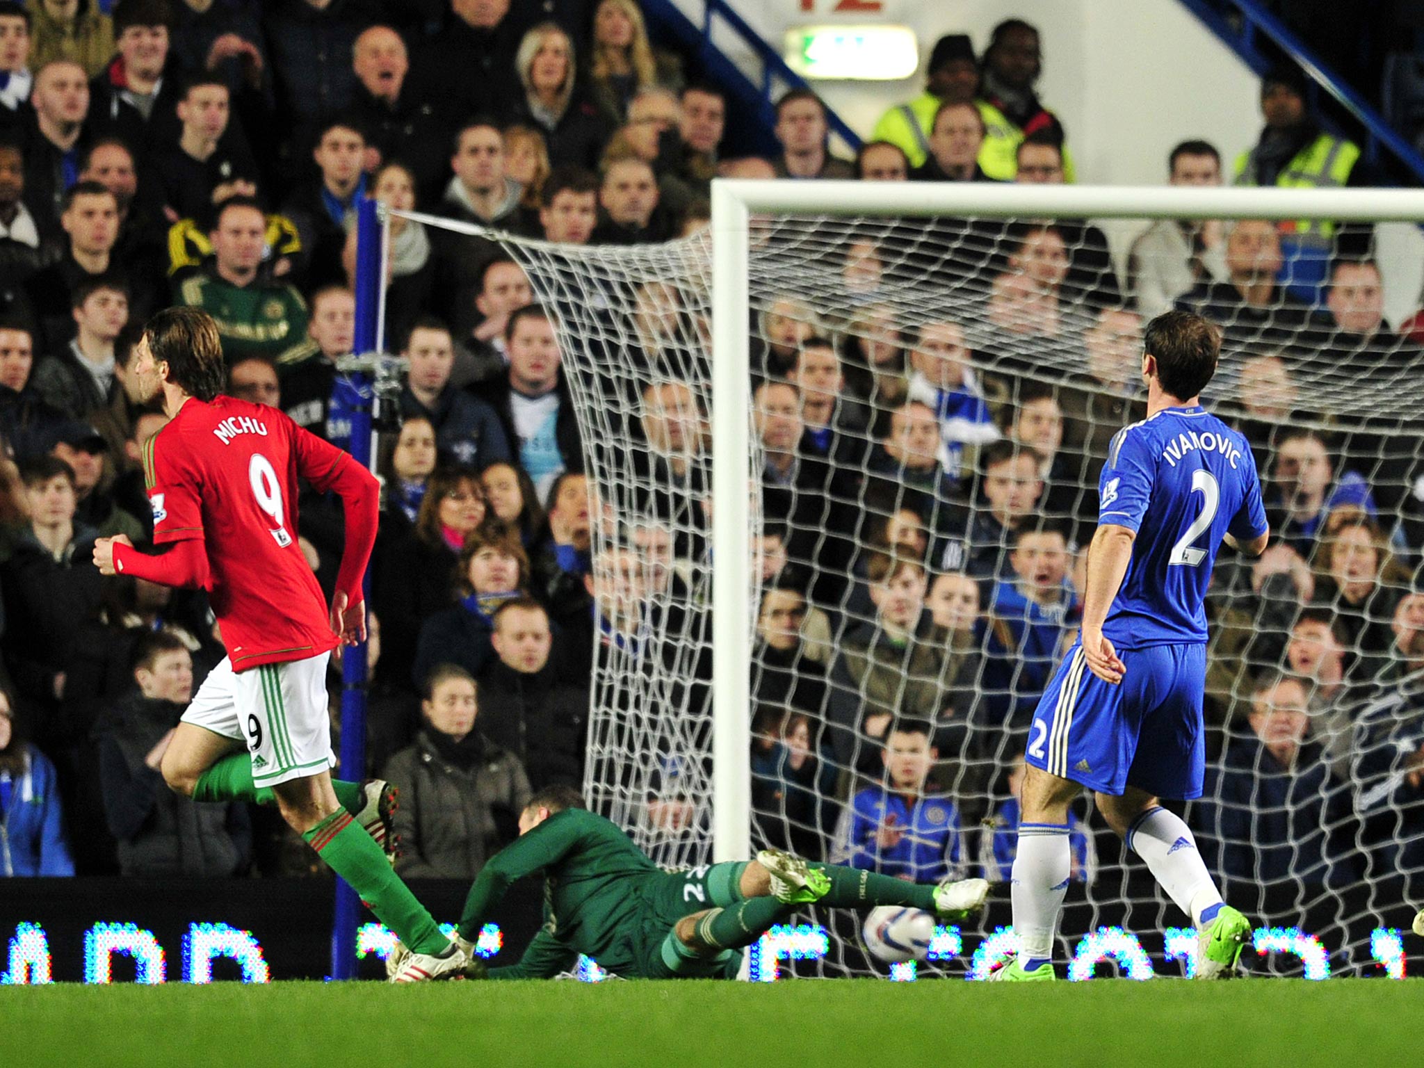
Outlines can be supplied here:
[[1085, 484], [1098, 484], [1108, 441], [1128, 423], [1146, 416], [1142, 397], [1142, 318], [1124, 308], [1101, 308], [1082, 335], [1084, 372], [1058, 392], [1064, 409], [1064, 446], [1088, 457]]

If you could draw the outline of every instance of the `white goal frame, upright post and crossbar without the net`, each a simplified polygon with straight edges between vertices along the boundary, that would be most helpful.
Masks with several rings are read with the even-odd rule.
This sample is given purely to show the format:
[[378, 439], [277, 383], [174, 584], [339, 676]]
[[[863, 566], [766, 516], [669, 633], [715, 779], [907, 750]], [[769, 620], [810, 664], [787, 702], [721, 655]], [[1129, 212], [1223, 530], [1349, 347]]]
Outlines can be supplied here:
[[[712, 857], [752, 847], [753, 215], [1334, 219], [1424, 224], [1424, 191], [728, 179], [712, 182]], [[755, 477], [755, 476], [753, 476]]]

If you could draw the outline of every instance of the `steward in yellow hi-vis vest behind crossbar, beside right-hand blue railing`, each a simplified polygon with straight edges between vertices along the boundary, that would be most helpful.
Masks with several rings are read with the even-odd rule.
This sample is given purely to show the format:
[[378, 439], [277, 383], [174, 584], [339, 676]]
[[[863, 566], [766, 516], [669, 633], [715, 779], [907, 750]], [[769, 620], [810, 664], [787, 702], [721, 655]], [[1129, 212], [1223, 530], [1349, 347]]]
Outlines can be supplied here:
[[[1236, 158], [1236, 185], [1279, 185], [1334, 189], [1373, 185], [1370, 169], [1351, 141], [1323, 131], [1306, 111], [1306, 78], [1294, 67], [1267, 71], [1260, 84], [1266, 120], [1255, 148]], [[1296, 296], [1320, 303], [1331, 255], [1370, 255], [1370, 224], [1343, 226], [1333, 219], [1287, 219], [1279, 224], [1283, 266], [1280, 282]]]

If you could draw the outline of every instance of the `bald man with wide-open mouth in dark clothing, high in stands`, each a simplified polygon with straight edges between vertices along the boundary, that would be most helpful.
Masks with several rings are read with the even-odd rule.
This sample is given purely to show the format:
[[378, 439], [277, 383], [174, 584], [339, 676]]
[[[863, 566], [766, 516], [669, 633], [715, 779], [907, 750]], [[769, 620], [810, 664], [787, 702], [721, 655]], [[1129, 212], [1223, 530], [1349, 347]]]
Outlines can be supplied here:
[[353, 88], [350, 121], [366, 138], [369, 172], [400, 161], [422, 199], [434, 201], [446, 174], [446, 128], [436, 100], [423, 97], [410, 80], [410, 56], [400, 34], [372, 26], [352, 47]]

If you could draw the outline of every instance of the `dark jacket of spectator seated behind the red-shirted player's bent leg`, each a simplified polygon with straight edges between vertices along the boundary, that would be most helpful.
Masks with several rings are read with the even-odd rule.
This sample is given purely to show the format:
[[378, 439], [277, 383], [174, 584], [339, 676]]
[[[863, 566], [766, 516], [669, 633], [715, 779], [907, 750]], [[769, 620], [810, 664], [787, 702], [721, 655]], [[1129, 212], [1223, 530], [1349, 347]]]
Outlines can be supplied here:
[[246, 869], [252, 847], [246, 807], [189, 800], [144, 763], [182, 711], [134, 693], [97, 726], [104, 810], [125, 876], [225, 877]]

